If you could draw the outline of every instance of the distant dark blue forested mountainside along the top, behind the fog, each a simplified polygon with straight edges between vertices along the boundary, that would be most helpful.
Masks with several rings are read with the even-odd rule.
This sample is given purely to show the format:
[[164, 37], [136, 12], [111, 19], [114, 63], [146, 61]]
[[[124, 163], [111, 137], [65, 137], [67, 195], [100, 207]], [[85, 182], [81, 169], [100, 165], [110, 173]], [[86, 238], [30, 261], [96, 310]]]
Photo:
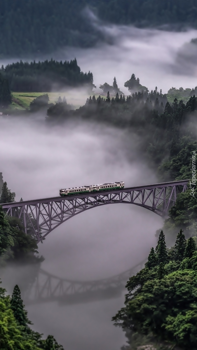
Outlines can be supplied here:
[[197, 0], [0, 0], [0, 57], [91, 47], [105, 40], [87, 6], [106, 22], [138, 27], [197, 27]]

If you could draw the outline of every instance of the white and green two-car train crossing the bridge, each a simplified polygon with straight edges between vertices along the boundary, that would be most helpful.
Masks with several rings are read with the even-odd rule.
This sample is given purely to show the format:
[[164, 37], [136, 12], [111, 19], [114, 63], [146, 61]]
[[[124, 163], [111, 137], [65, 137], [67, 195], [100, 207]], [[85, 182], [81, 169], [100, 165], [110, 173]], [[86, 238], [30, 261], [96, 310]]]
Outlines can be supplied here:
[[109, 191], [109, 190], [116, 190], [118, 188], [124, 188], [124, 182], [120, 181], [120, 182], [102, 183], [98, 185], [64, 188], [60, 190], [60, 196], [75, 195], [78, 193], [80, 194], [80, 193], [88, 193], [88, 192]]

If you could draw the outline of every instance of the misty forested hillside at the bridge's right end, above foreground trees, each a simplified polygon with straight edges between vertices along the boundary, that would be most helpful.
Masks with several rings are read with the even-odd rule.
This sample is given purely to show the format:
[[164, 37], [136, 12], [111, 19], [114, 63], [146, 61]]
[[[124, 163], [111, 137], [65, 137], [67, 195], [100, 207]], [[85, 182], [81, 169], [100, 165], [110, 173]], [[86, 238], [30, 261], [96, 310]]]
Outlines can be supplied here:
[[[170, 104], [156, 87], [150, 92], [148, 89], [135, 92], [126, 99], [118, 92], [112, 98], [109, 92], [106, 98], [96, 99], [93, 95], [76, 110], [71, 110], [66, 101], [58, 102], [47, 110], [46, 121], [57, 124], [70, 119], [86, 120], [135, 132], [142, 154], [162, 182], [191, 178], [191, 156], [197, 151], [196, 111], [195, 95], [186, 104], [177, 98]], [[188, 190], [178, 196], [164, 224], [167, 243], [175, 241], [175, 232], [180, 229], [187, 238], [196, 236], [196, 225], [196, 200]]]

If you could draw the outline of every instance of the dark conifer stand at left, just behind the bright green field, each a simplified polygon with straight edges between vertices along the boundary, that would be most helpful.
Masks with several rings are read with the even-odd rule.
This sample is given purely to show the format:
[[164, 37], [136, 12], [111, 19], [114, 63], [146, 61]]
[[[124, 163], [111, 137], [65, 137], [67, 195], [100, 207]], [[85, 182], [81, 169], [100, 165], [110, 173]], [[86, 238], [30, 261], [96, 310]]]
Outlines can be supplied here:
[[30, 63], [20, 61], [2, 66], [0, 76], [9, 82], [12, 91], [49, 92], [53, 89], [82, 85], [91, 91], [95, 87], [93, 74], [83, 73], [77, 65], [76, 58], [70, 62], [57, 62], [53, 59]]

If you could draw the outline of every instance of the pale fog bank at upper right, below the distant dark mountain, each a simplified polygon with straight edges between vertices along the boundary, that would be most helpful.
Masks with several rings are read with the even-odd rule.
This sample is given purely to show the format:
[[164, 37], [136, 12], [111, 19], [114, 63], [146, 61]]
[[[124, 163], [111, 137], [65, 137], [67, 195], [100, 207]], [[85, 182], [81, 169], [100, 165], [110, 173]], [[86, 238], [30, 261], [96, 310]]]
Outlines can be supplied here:
[[[113, 38], [113, 44], [105, 43], [89, 49], [66, 49], [57, 58], [77, 58], [83, 71], [91, 71], [94, 84], [107, 82], [112, 85], [114, 76], [120, 89], [128, 94], [124, 82], [134, 73], [149, 90], [162, 89], [163, 93], [174, 86], [197, 85], [197, 44], [190, 43], [197, 37], [197, 30], [171, 32], [134, 27], [104, 27]], [[100, 90], [101, 91], [101, 90]]]

